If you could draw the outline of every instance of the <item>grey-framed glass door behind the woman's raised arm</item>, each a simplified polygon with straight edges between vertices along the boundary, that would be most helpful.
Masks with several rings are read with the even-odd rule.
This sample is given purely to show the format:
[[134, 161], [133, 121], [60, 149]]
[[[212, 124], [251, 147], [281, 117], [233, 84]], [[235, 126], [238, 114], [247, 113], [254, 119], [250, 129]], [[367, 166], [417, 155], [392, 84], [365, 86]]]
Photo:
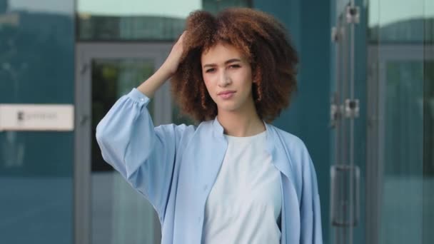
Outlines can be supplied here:
[[[96, 125], [113, 103], [151, 76], [171, 44], [79, 44], [76, 86], [76, 243], [160, 243], [156, 212], [107, 164]], [[167, 99], [169, 98], [169, 99]], [[156, 126], [171, 123], [168, 83], [148, 105]]]

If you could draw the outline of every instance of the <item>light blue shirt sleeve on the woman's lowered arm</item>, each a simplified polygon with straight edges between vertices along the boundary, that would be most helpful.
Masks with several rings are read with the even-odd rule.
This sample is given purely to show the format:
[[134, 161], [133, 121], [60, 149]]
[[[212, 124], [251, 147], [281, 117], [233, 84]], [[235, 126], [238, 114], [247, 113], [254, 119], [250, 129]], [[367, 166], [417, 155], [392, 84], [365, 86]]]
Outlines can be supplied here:
[[301, 243], [322, 244], [321, 205], [316, 171], [306, 146], [303, 150], [303, 187], [301, 197]]

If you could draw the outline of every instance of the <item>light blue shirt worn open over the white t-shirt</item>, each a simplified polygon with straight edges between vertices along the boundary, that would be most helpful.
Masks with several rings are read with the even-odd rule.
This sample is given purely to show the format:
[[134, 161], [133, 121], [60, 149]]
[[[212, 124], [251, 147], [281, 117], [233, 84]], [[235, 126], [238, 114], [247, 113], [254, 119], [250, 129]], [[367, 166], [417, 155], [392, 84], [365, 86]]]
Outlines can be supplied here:
[[[137, 89], [122, 96], [96, 128], [104, 160], [143, 194], [161, 221], [163, 244], [202, 243], [208, 194], [228, 143], [217, 119], [154, 127]], [[281, 172], [281, 243], [323, 243], [316, 173], [296, 136], [266, 123], [267, 147]]]

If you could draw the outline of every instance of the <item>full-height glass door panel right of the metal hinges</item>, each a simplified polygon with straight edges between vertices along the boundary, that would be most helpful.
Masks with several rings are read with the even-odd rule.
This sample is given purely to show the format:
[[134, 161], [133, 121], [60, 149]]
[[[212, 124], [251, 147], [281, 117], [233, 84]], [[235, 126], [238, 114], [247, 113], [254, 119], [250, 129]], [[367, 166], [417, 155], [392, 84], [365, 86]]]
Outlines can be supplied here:
[[434, 243], [434, 1], [368, 11], [367, 243]]

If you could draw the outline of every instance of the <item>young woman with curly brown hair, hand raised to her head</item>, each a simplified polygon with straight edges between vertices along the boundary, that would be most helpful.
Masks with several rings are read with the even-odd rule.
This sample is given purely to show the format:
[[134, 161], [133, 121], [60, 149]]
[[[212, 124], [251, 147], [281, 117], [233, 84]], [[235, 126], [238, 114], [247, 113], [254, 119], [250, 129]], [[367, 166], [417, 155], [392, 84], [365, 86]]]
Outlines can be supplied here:
[[[161, 68], [99, 123], [104, 159], [156, 209], [161, 243], [322, 243], [308, 150], [269, 124], [297, 62], [273, 17], [196, 11]], [[154, 128], [146, 105], [168, 78], [198, 126]]]

